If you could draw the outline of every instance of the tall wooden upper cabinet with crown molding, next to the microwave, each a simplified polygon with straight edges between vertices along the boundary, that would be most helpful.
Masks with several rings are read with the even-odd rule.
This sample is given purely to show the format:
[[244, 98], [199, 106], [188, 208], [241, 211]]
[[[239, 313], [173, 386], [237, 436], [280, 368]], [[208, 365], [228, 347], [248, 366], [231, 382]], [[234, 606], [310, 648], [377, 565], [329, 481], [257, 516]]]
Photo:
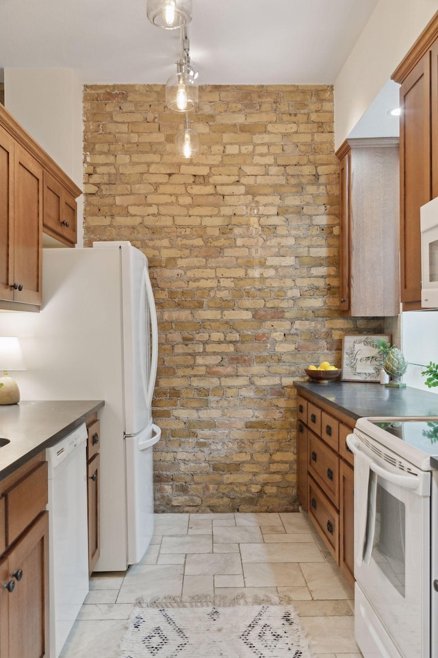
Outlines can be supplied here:
[[421, 308], [420, 207], [438, 196], [438, 12], [391, 76], [400, 84], [400, 297]]

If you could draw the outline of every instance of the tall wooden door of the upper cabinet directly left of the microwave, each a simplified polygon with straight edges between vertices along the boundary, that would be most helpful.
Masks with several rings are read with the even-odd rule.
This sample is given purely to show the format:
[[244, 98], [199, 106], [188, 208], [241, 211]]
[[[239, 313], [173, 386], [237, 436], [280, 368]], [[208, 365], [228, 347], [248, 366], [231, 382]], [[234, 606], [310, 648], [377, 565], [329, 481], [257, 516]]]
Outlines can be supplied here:
[[430, 51], [400, 86], [400, 296], [420, 308], [420, 206], [431, 199]]

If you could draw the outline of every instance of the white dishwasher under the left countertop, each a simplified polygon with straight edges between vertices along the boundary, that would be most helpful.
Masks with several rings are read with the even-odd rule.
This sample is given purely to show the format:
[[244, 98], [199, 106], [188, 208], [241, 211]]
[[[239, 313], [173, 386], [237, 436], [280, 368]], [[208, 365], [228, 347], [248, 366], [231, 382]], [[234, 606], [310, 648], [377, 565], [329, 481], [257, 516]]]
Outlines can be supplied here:
[[50, 655], [57, 658], [88, 594], [87, 430], [46, 450], [49, 464]]

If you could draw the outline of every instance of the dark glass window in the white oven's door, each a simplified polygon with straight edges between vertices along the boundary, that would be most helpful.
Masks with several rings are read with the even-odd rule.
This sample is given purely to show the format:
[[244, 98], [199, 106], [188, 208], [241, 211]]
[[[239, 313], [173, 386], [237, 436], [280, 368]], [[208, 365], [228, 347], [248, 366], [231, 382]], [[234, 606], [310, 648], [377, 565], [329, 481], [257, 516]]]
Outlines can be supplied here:
[[404, 598], [406, 585], [406, 507], [377, 483], [372, 559]]

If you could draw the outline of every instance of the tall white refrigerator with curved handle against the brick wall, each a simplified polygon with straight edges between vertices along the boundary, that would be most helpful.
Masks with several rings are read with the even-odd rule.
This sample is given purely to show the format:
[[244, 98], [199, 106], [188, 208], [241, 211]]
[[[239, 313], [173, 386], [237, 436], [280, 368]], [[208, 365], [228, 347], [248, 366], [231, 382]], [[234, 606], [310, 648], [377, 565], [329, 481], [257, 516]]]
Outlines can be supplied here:
[[18, 336], [22, 400], [105, 400], [101, 418], [101, 556], [96, 571], [138, 562], [153, 534], [151, 403], [157, 314], [148, 262], [129, 242], [44, 249], [40, 313], [5, 313]]

